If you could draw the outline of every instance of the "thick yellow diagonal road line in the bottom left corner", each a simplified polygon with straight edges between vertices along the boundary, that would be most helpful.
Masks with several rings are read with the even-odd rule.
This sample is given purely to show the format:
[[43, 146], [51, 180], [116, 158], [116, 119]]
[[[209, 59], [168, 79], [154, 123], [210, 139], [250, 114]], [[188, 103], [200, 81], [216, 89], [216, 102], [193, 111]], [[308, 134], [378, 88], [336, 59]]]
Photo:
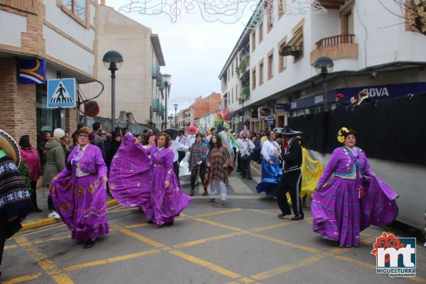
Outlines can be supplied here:
[[36, 249], [26, 237], [19, 237], [16, 240], [16, 243], [19, 246], [22, 246], [23, 249], [33, 258], [33, 260], [42, 268], [48, 275], [50, 275], [56, 283], [60, 284], [72, 284], [71, 278], [69, 278], [65, 273], [55, 266], [55, 264], [48, 259], [41, 251]]

